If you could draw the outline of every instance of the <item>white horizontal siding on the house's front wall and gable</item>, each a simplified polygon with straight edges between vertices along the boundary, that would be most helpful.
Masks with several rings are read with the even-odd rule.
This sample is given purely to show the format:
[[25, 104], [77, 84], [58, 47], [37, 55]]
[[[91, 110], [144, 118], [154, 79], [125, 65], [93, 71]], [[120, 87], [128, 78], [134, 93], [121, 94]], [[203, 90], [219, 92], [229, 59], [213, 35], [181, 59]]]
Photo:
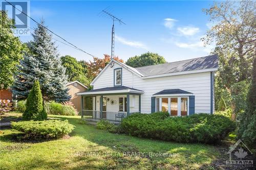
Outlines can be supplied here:
[[[117, 63], [112, 68], [108, 66], [94, 82], [94, 89], [112, 87], [114, 85], [114, 69], [119, 67], [122, 66]], [[141, 95], [141, 113], [151, 113], [151, 97], [154, 93], [163, 89], [176, 88], [194, 93], [196, 113], [210, 113], [210, 72], [141, 79], [122, 67], [122, 85], [144, 91]]]

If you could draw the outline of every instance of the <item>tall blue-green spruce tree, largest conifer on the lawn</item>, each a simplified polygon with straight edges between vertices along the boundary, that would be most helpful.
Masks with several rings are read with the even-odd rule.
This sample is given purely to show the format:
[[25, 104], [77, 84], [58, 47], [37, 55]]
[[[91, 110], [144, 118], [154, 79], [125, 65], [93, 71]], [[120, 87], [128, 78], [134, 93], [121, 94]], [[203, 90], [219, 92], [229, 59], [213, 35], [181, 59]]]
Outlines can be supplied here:
[[41, 85], [43, 99], [66, 102], [68, 94], [67, 76], [61, 65], [52, 35], [44, 27], [44, 21], [37, 25], [32, 34], [33, 41], [27, 43], [29, 52], [20, 61], [16, 80], [12, 87], [19, 99], [26, 99], [35, 80]]

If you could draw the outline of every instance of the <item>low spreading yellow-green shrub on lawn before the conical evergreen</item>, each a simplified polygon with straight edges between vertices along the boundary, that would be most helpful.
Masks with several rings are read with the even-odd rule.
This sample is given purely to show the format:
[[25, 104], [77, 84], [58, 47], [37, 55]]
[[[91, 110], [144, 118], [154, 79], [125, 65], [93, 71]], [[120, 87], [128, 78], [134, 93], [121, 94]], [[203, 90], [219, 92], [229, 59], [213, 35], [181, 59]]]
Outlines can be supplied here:
[[68, 120], [42, 120], [42, 121], [22, 121], [12, 122], [12, 128], [23, 132], [25, 139], [49, 139], [60, 138], [69, 134], [74, 126]]

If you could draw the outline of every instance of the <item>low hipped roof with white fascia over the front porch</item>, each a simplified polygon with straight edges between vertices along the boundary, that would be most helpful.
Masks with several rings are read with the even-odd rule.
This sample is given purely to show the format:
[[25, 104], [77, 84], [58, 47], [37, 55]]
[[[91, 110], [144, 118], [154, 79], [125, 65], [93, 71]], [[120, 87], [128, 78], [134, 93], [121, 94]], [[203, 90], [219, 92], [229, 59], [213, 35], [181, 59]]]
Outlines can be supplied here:
[[93, 95], [93, 94], [120, 94], [120, 93], [137, 93], [142, 94], [144, 91], [135, 88], [130, 88], [126, 86], [114, 86], [114, 87], [104, 87], [95, 90], [79, 92], [77, 95]]

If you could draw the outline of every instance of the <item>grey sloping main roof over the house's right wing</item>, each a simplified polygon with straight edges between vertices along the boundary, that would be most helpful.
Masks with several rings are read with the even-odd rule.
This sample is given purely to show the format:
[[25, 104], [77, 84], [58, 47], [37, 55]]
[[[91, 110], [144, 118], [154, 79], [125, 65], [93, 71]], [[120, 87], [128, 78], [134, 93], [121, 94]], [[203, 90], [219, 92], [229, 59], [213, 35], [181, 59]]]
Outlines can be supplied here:
[[218, 56], [211, 55], [206, 57], [194, 58], [183, 61], [170, 62], [158, 65], [136, 67], [144, 76], [161, 75], [172, 72], [190, 71], [208, 68], [218, 68]]

